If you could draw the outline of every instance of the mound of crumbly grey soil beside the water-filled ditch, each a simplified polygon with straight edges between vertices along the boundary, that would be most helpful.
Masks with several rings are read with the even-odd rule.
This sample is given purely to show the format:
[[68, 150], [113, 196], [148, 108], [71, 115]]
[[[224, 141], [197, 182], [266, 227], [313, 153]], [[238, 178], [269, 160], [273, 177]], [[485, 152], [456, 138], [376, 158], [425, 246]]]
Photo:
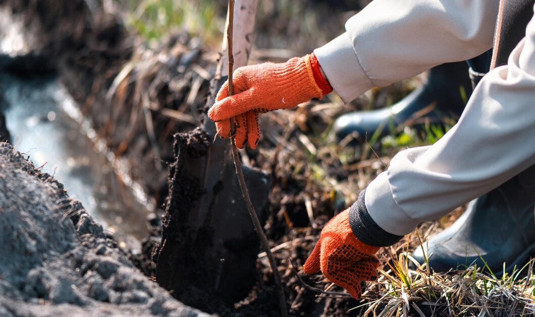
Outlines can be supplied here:
[[200, 316], [141, 274], [63, 185], [0, 143], [0, 315]]

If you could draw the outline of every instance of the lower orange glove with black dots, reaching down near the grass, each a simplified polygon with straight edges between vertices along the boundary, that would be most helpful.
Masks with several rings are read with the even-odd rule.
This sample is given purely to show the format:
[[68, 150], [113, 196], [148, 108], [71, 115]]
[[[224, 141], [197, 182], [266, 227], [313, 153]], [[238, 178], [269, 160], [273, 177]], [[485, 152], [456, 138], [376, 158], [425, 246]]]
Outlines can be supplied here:
[[378, 250], [378, 246], [364, 244], [353, 234], [348, 208], [327, 222], [304, 264], [304, 273], [314, 274], [321, 269], [329, 281], [358, 299], [362, 293], [361, 281], [377, 279], [379, 259], [374, 254]]

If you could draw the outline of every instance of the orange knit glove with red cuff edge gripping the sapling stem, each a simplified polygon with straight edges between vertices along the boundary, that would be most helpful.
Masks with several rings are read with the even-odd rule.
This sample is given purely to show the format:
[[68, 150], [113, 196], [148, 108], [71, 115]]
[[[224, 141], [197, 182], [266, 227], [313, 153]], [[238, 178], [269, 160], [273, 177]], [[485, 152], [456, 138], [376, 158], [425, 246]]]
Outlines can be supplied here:
[[332, 91], [320, 72], [314, 53], [281, 64], [240, 67], [233, 76], [234, 95], [228, 97], [228, 82], [225, 82], [208, 116], [216, 122], [221, 138], [227, 138], [230, 134], [230, 118], [234, 118], [238, 148], [243, 148], [247, 143], [250, 148], [256, 148], [260, 141], [258, 113], [293, 108], [311, 98], [322, 98]]

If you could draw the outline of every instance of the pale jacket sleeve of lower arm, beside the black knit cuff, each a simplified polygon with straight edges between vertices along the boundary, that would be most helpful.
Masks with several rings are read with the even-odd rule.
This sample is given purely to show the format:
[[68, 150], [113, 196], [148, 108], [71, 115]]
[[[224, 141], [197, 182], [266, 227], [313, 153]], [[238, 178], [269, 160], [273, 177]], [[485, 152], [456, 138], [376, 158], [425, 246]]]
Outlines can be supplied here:
[[396, 235], [434, 220], [535, 164], [535, 18], [479, 82], [457, 125], [431, 146], [399, 152], [366, 190], [377, 224]]

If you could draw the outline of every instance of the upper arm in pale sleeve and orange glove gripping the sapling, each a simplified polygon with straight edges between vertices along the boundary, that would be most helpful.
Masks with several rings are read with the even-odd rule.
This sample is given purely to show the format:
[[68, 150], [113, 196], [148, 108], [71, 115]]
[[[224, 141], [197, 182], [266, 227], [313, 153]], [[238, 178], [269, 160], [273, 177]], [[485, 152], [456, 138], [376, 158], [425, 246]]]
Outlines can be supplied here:
[[375, 86], [488, 50], [498, 2], [375, 0], [347, 21], [346, 33], [310, 56], [236, 69], [236, 95], [226, 96], [224, 86], [208, 115], [223, 138], [234, 118], [236, 144], [255, 148], [258, 113], [289, 109], [333, 88], [349, 102]]

